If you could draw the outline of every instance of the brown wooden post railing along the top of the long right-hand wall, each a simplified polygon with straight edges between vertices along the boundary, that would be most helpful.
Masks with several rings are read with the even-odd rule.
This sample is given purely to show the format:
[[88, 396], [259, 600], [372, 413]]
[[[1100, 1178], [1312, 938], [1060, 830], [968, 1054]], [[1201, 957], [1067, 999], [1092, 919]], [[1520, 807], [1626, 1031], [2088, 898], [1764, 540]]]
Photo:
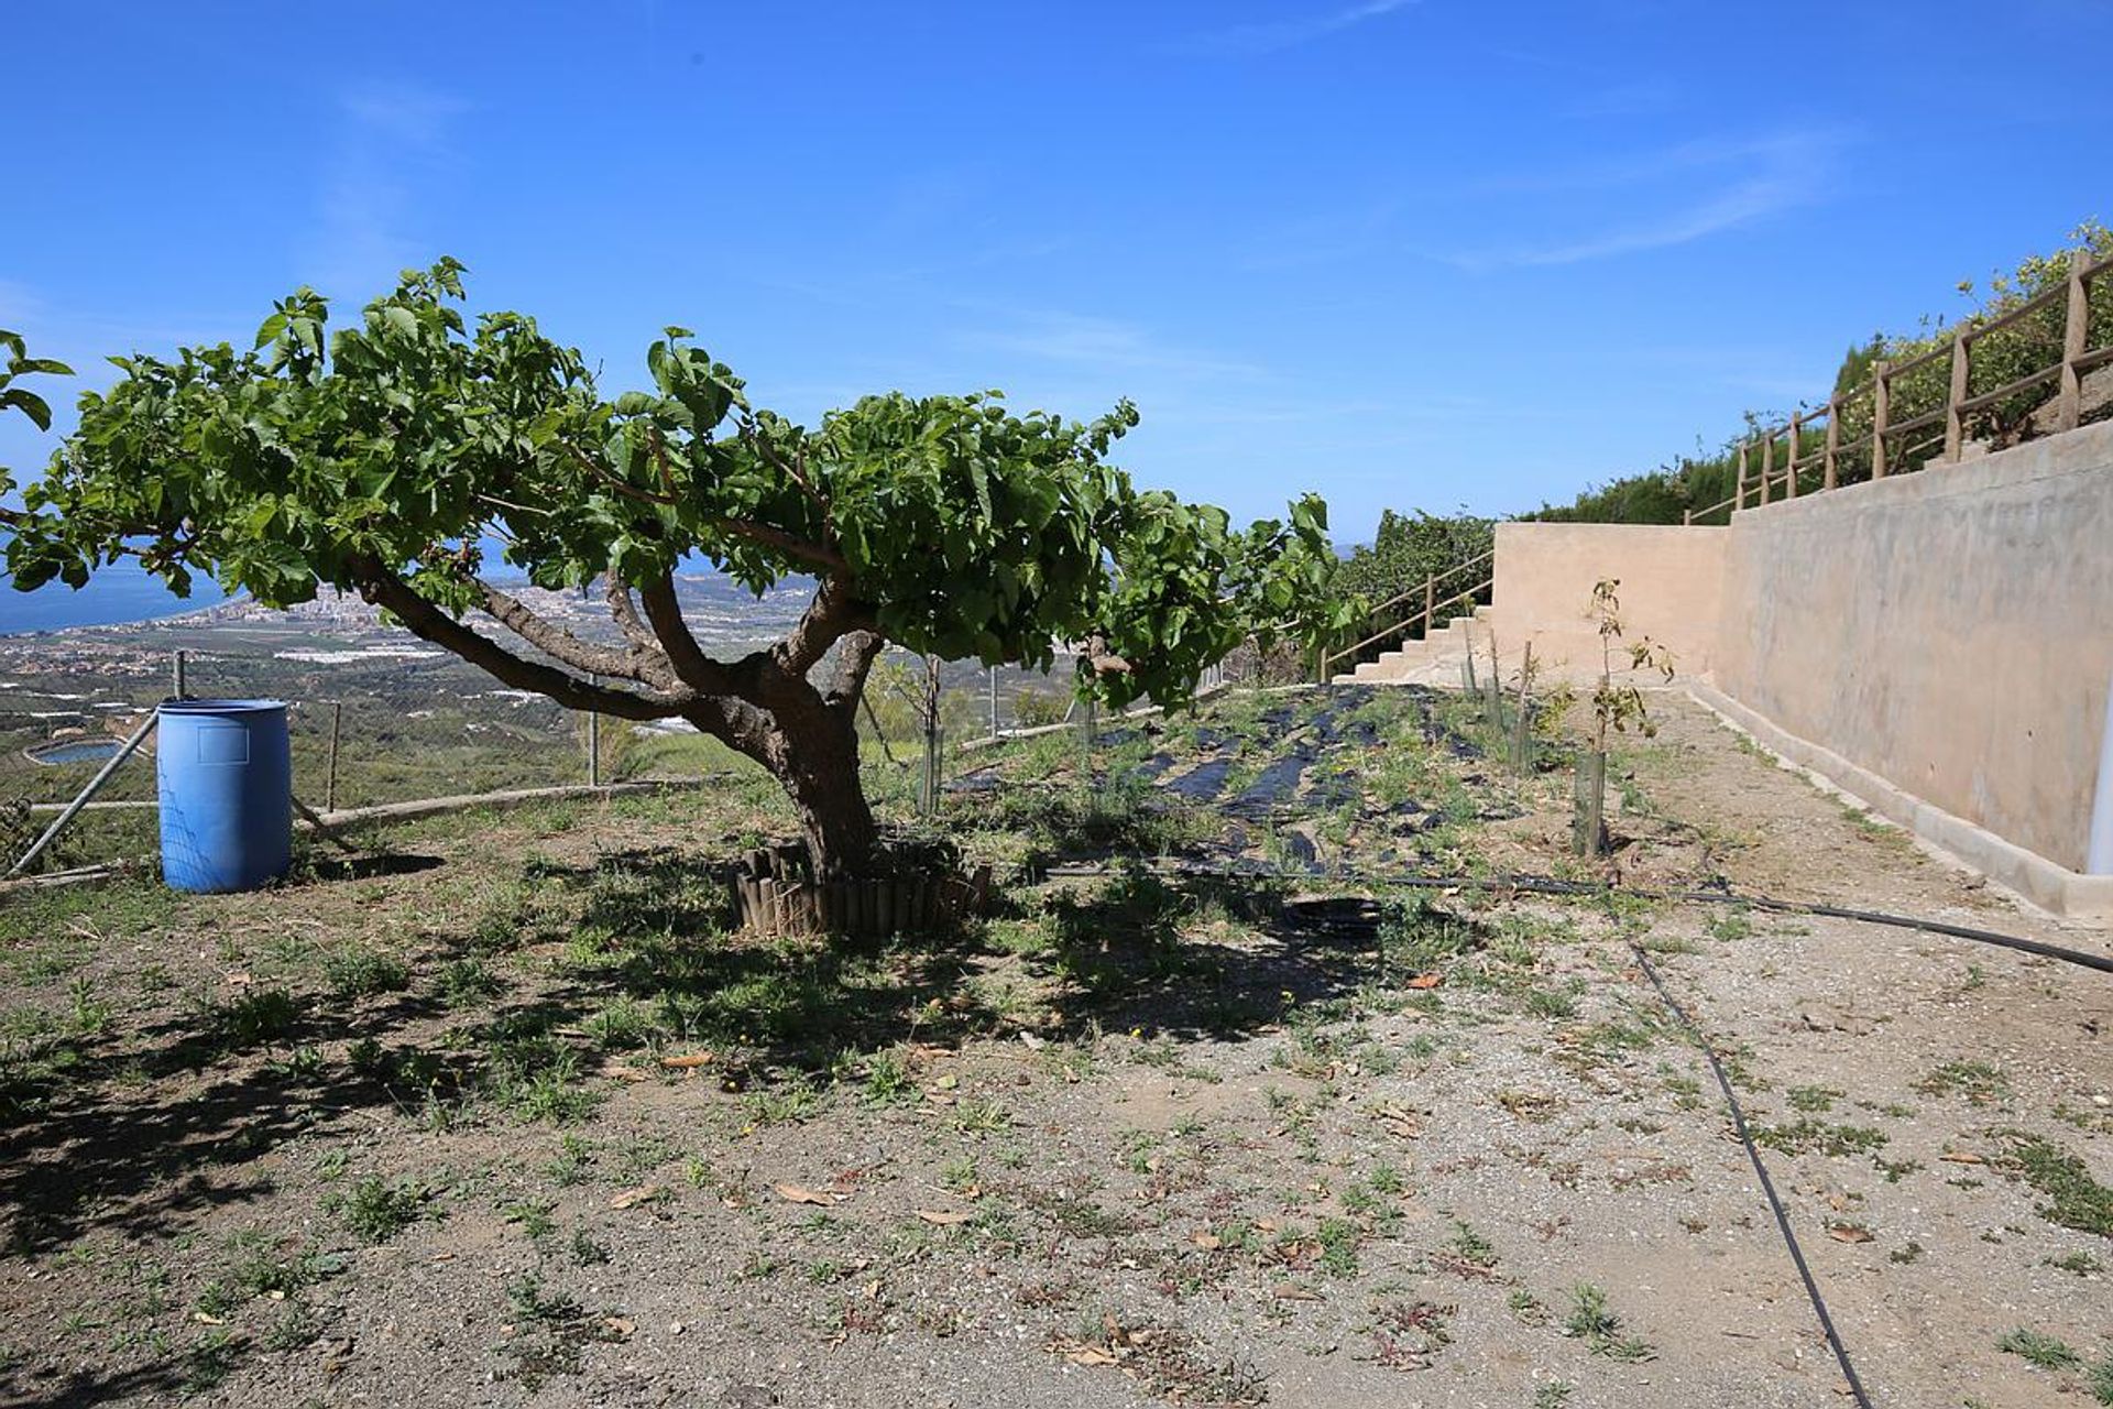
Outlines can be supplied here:
[[[2009, 414], [1999, 416], [1999, 420], [2028, 425], [2047, 397], [2026, 397], [2047, 382], [2056, 382], [2052, 429], [2075, 431], [2083, 420], [2083, 376], [2113, 363], [2113, 344], [2090, 346], [2092, 281], [2109, 270], [2113, 270], [2113, 256], [2092, 260], [2079, 249], [2069, 260], [2069, 279], [2062, 287], [2028, 298], [1986, 323], [1963, 323], [1950, 342], [1929, 353], [1897, 363], [1881, 361], [1862, 387], [1815, 410], [1800, 410], [1788, 425], [1739, 442], [1737, 488], [1731, 499], [1707, 509], [1688, 509], [1680, 522], [1701, 524], [1726, 509], [1739, 511], [1775, 499], [1796, 499], [1855, 480], [1885, 480], [1889, 473], [1914, 471], [1931, 461], [1957, 461], [1965, 450], [1974, 416], [2007, 408]], [[2001, 387], [1976, 391], [1974, 344], [2005, 330], [2024, 330], [2033, 321], [2041, 321], [2052, 334], [2054, 319], [2050, 315], [2056, 306], [2062, 308], [2060, 357], [2012, 376]], [[1942, 397], [1927, 410], [1897, 416], [1902, 391], [1931, 382], [1946, 363], [1948, 380]], [[1859, 433], [1853, 439], [1843, 439], [1845, 427]], [[1779, 442], [1781, 461], [1777, 461]], [[1866, 467], [1868, 473], [1862, 473]]]

